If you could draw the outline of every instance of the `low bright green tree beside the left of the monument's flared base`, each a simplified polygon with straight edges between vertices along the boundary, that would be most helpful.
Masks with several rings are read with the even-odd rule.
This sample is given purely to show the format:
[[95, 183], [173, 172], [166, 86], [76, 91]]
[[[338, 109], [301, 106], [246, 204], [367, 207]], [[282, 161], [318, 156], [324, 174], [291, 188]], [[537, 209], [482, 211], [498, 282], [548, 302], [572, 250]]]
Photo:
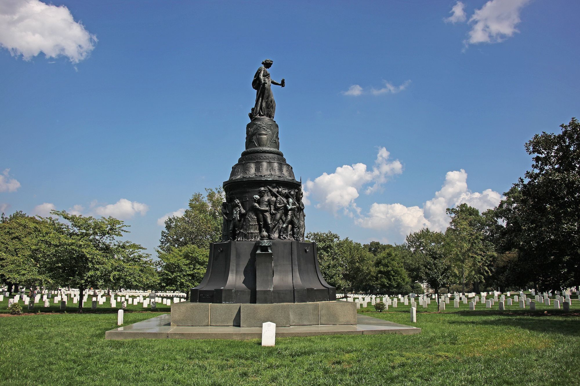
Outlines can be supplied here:
[[184, 291], [189, 296], [189, 289], [199, 285], [204, 278], [209, 250], [197, 245], [185, 245], [158, 253], [160, 285], [168, 290]]

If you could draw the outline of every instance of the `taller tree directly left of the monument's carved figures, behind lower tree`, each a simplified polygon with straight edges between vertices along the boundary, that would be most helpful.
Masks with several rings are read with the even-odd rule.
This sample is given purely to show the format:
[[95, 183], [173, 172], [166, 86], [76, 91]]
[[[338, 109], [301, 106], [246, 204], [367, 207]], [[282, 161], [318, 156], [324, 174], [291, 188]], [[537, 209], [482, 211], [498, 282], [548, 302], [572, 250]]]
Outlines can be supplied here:
[[165, 220], [159, 245], [162, 252], [169, 253], [174, 247], [186, 245], [209, 249], [210, 243], [221, 240], [223, 190], [205, 191], [205, 196], [197, 192], [191, 197], [183, 216]]

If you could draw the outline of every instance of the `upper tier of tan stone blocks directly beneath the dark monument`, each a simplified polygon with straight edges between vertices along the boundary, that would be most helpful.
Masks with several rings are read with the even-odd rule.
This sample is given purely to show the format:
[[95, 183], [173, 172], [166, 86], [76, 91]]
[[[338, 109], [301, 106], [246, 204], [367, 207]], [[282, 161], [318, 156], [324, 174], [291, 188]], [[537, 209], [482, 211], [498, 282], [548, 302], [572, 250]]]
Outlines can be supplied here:
[[172, 326], [277, 327], [306, 325], [352, 325], [357, 323], [356, 304], [347, 301], [312, 303], [216, 304], [174, 303]]

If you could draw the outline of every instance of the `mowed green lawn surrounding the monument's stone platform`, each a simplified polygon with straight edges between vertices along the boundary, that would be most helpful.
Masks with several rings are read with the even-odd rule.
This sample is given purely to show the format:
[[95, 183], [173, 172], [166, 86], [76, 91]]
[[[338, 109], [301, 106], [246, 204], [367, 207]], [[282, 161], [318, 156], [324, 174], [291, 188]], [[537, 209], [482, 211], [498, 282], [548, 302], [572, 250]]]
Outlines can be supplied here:
[[[6, 301], [0, 307], [6, 307]], [[580, 305], [564, 313], [418, 308], [422, 333], [259, 340], [104, 340], [115, 312], [0, 317], [0, 382], [17, 385], [574, 385]], [[480, 307], [481, 306], [481, 307]], [[135, 311], [142, 307], [134, 306]], [[409, 306], [362, 313], [409, 324]], [[131, 306], [129, 306], [131, 309]], [[159, 312], [125, 313], [125, 324]], [[423, 312], [427, 311], [427, 312]], [[546, 312], [546, 313], [545, 313]]]

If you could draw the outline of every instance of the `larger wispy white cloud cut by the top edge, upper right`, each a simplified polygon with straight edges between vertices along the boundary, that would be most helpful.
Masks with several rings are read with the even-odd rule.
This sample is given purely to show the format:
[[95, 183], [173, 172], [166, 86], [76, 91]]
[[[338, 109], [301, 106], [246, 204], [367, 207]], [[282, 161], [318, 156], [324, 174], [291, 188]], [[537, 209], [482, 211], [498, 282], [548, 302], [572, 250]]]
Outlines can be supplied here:
[[520, 10], [530, 0], [490, 0], [477, 9], [470, 17], [473, 24], [465, 45], [478, 43], [498, 43], [519, 32]]

